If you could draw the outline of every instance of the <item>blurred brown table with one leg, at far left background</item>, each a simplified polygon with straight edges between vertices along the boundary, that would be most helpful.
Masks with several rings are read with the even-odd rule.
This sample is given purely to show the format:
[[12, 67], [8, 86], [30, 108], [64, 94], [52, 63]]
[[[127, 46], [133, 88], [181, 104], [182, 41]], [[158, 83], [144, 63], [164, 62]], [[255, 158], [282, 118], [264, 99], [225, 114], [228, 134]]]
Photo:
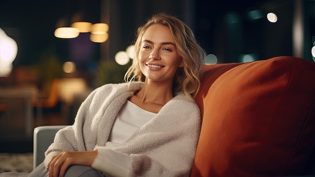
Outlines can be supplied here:
[[33, 106], [32, 99], [37, 97], [38, 90], [34, 86], [12, 86], [0, 87], [0, 97], [2, 98], [23, 98], [24, 108], [24, 130], [27, 137], [33, 135]]

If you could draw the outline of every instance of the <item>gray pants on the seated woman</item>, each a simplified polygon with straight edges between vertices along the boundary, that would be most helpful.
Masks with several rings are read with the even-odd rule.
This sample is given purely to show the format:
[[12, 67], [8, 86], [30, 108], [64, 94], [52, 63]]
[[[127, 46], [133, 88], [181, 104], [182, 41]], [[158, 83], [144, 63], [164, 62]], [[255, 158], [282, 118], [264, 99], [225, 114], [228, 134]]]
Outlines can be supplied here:
[[[0, 177], [48, 177], [44, 163], [38, 165], [31, 173], [4, 172]], [[65, 172], [65, 177], [104, 177], [98, 170], [91, 166], [72, 165]]]

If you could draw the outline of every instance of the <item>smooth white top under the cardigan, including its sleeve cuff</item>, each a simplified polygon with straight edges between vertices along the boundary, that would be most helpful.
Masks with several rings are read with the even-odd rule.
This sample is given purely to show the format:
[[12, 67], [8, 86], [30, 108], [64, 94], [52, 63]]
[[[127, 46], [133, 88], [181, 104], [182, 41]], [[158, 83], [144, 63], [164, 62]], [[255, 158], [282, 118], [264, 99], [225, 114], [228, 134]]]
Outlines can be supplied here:
[[[91, 166], [95, 169], [106, 167], [106, 172], [110, 175], [120, 173], [118, 176], [127, 176], [131, 170], [132, 160], [130, 156], [116, 153], [111, 148], [127, 141], [132, 134], [155, 115], [156, 113], [146, 111], [127, 100], [117, 114], [108, 142], [103, 147], [95, 146], [94, 149], [98, 149], [99, 153]], [[104, 156], [107, 158], [104, 159]]]

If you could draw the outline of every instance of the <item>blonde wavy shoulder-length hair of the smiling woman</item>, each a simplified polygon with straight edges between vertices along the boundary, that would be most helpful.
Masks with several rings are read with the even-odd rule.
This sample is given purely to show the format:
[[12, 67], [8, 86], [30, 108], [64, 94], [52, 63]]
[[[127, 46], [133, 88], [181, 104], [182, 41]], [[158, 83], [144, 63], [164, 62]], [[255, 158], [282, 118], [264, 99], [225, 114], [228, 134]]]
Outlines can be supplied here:
[[200, 78], [203, 72], [205, 61], [205, 51], [200, 47], [195, 39], [192, 30], [178, 18], [165, 13], [153, 15], [146, 23], [140, 26], [136, 32], [134, 42], [134, 58], [132, 65], [127, 70], [124, 80], [126, 82], [142, 81], [145, 76], [139, 67], [139, 50], [141, 48], [141, 39], [145, 30], [153, 25], [161, 24], [170, 28], [175, 40], [177, 51], [182, 57], [183, 67], [178, 68], [173, 81], [173, 92], [184, 92], [189, 97], [194, 97], [200, 88]]

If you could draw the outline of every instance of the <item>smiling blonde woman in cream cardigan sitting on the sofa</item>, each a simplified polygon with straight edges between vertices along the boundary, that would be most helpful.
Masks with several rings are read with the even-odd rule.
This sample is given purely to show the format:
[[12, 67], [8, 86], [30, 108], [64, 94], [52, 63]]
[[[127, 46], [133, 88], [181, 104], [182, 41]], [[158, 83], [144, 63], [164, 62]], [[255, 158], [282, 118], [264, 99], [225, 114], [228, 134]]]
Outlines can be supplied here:
[[74, 124], [58, 131], [45, 152], [43, 175], [64, 176], [69, 166], [85, 165], [100, 175], [189, 176], [201, 123], [193, 96], [204, 57], [187, 25], [153, 15], [137, 30], [126, 83], [88, 96]]

